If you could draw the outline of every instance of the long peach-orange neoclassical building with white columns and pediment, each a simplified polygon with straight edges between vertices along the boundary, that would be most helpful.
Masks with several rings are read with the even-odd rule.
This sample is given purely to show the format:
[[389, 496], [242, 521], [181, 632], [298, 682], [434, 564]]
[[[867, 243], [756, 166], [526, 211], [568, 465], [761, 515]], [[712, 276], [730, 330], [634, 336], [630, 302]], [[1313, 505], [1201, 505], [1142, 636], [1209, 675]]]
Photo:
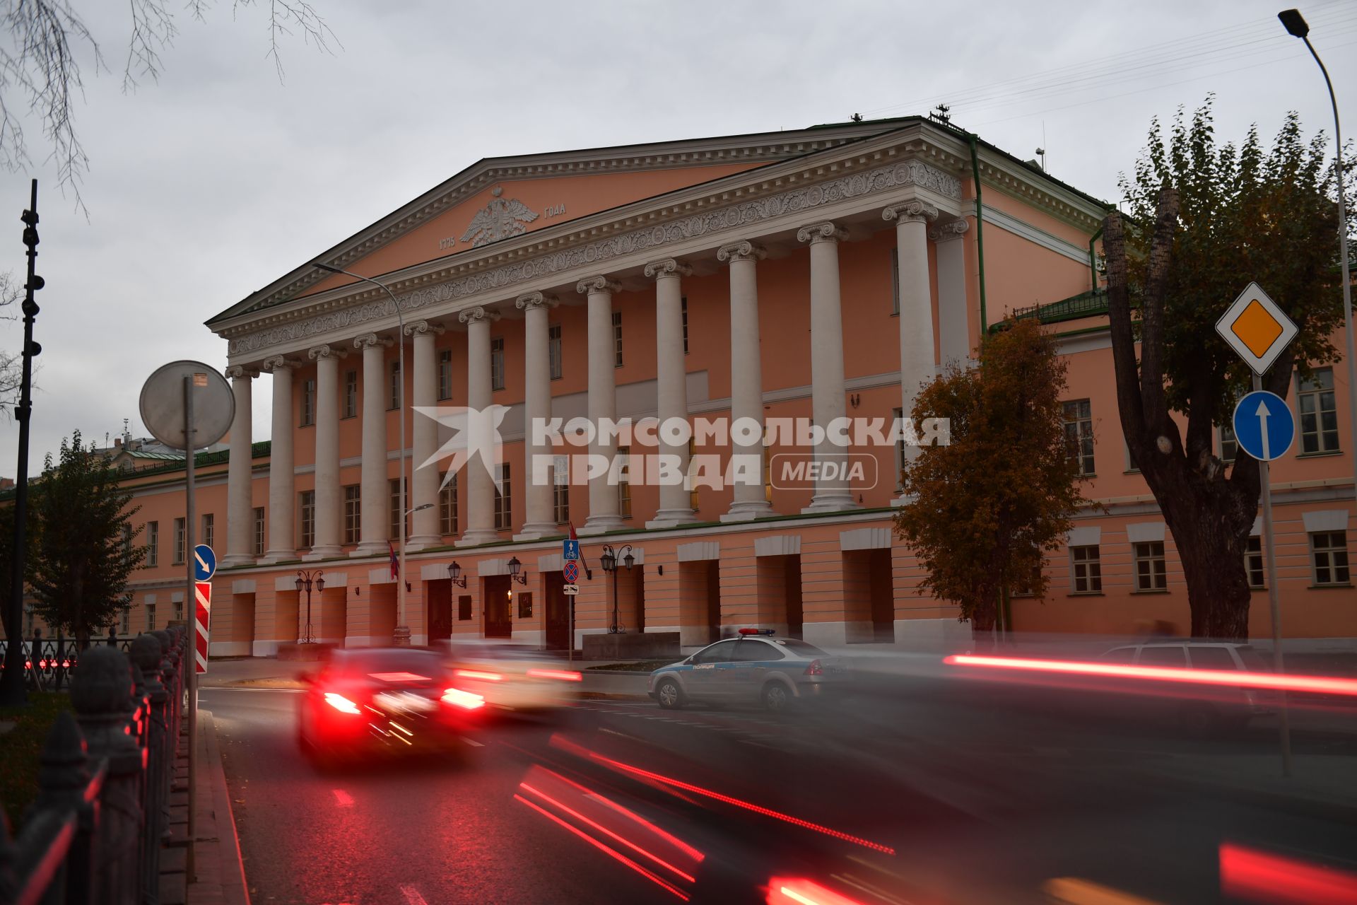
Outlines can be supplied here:
[[[890, 531], [912, 450], [858, 442], [856, 471], [817, 474], [798, 468], [813, 450], [784, 427], [890, 422], [1008, 316], [1060, 334], [1072, 455], [1107, 506], [1052, 558], [1048, 598], [1018, 601], [1016, 628], [1186, 630], [1171, 536], [1117, 423], [1092, 269], [1105, 210], [923, 118], [482, 160], [318, 254], [324, 269], [299, 262], [206, 322], [227, 342], [236, 403], [229, 453], [202, 457], [198, 479], [198, 533], [223, 559], [212, 650], [270, 654], [308, 623], [346, 644], [407, 625], [414, 643], [563, 647], [570, 524], [584, 552], [577, 643], [619, 627], [696, 644], [752, 624], [828, 644], [963, 636]], [[1291, 634], [1357, 635], [1345, 389], [1335, 402], [1341, 372], [1326, 373], [1327, 389], [1293, 398], [1318, 406], [1318, 445], [1273, 472], [1285, 604], [1304, 625]], [[251, 436], [261, 399], [267, 442]], [[452, 431], [421, 410], [461, 406], [503, 407], [498, 486], [475, 464], [445, 480]], [[581, 418], [753, 429], [654, 448], [529, 430]], [[582, 452], [611, 467], [581, 476], [569, 460]], [[639, 479], [650, 453], [759, 467], [654, 486]], [[535, 480], [544, 457], [556, 464]], [[136, 586], [140, 630], [182, 605], [183, 493], [172, 467], [129, 482], [147, 543], [163, 545]], [[391, 566], [403, 517], [404, 588]], [[299, 570], [322, 570], [324, 588], [299, 588]]]

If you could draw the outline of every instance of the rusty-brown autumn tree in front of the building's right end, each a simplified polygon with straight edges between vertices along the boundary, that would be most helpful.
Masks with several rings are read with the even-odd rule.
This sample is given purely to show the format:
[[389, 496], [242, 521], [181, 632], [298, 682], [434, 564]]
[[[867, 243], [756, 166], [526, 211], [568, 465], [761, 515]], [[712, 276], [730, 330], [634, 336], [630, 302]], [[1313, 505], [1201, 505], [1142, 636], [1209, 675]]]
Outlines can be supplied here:
[[1022, 320], [981, 347], [980, 364], [954, 365], [920, 392], [915, 423], [949, 418], [951, 442], [923, 446], [905, 465], [913, 499], [894, 522], [927, 573], [923, 586], [958, 604], [977, 632], [993, 630], [1010, 592], [1045, 593], [1044, 555], [1086, 505], [1054, 341]]

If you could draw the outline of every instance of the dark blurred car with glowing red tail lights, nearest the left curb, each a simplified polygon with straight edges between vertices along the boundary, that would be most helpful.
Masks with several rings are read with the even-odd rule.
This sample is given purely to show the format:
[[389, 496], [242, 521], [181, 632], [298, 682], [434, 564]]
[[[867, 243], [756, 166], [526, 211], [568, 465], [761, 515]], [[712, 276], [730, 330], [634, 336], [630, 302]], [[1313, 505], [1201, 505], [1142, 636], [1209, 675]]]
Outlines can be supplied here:
[[459, 688], [437, 651], [335, 650], [301, 677], [297, 742], [318, 761], [392, 749], [446, 748], [474, 725], [484, 700]]

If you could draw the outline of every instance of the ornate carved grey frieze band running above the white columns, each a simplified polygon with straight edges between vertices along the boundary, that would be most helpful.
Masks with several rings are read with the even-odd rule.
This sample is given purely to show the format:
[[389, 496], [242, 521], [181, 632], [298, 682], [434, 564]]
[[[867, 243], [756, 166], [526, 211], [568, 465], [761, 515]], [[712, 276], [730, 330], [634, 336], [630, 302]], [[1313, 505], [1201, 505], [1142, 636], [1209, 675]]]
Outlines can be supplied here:
[[[231, 341], [229, 354], [246, 355], [273, 346], [300, 345], [309, 336], [349, 330], [358, 324], [394, 317], [394, 304], [399, 304], [402, 312], [410, 312], [486, 292], [502, 292], [509, 286], [531, 280], [541, 280], [589, 267], [590, 265], [601, 265], [627, 255], [660, 250], [665, 246], [692, 239], [718, 236], [734, 231], [749, 232], [752, 228], [776, 217], [801, 212], [809, 213], [817, 208], [841, 201], [896, 191], [904, 187], [927, 189], [944, 198], [961, 199], [959, 179], [935, 167], [930, 167], [921, 160], [905, 160], [829, 182], [780, 191], [756, 201], [730, 205], [710, 213], [683, 217], [655, 227], [632, 229], [529, 261], [487, 267], [475, 274], [404, 293], [398, 296], [396, 303], [392, 303], [389, 299], [376, 300], [343, 311], [316, 315], [290, 324], [250, 332]], [[586, 290], [582, 289], [581, 292]]]

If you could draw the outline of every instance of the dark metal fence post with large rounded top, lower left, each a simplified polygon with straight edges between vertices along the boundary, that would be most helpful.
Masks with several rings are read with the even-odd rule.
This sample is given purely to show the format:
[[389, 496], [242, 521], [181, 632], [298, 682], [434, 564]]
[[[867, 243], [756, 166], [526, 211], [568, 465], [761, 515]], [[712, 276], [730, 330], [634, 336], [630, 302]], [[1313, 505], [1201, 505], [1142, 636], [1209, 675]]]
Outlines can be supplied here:
[[141, 883], [141, 748], [128, 731], [132, 663], [122, 651], [98, 647], [85, 654], [71, 680], [71, 704], [92, 758], [103, 758], [107, 776], [99, 826], [99, 860], [92, 889], [98, 901], [134, 902]]

